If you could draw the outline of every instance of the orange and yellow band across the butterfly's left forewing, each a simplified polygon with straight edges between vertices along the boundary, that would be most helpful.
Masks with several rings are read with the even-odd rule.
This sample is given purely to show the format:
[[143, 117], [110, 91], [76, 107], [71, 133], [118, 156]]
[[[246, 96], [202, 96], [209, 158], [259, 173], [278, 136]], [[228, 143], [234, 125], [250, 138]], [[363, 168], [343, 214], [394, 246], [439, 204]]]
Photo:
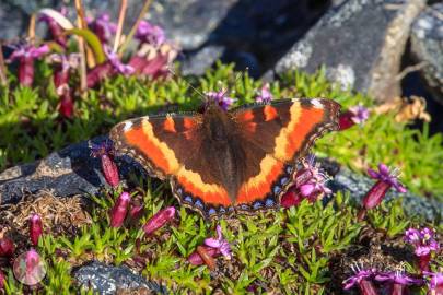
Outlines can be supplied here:
[[143, 120], [141, 127], [126, 131], [125, 138], [163, 173], [174, 174], [178, 170], [179, 164], [174, 151], [154, 135], [152, 125], [148, 120]]

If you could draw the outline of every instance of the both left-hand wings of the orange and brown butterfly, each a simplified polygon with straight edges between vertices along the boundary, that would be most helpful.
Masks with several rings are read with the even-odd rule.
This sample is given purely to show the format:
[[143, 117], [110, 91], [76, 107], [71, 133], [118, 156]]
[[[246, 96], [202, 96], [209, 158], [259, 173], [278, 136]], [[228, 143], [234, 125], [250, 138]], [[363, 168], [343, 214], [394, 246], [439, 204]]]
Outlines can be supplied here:
[[202, 156], [201, 125], [198, 113], [141, 117], [118, 123], [109, 137], [117, 151], [136, 158], [151, 176], [168, 179], [173, 194], [205, 215], [208, 205], [228, 208], [231, 200]]

